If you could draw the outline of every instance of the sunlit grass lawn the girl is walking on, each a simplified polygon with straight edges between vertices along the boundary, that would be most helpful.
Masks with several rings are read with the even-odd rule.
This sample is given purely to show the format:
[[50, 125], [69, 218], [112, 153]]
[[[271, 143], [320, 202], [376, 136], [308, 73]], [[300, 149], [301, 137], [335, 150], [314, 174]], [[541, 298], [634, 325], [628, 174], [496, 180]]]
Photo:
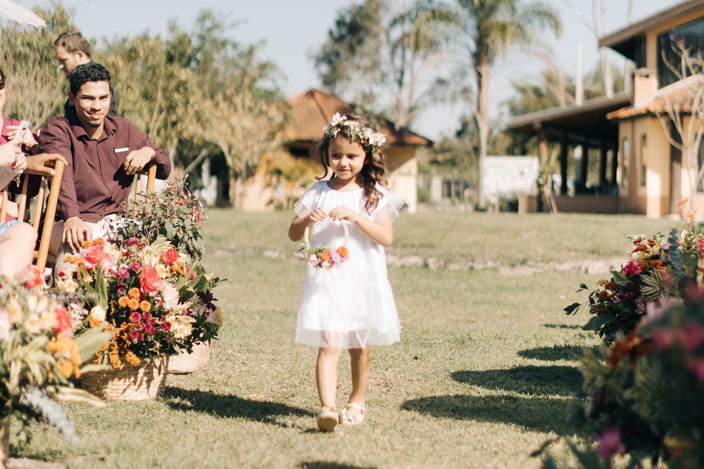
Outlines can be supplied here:
[[[681, 225], [630, 216], [403, 214], [389, 255], [441, 259], [444, 267], [389, 267], [401, 342], [372, 348], [365, 423], [322, 434], [314, 430], [317, 351], [293, 342], [305, 269], [291, 257], [293, 215], [209, 216], [206, 268], [228, 281], [215, 291], [226, 322], [208, 366], [169, 375], [165, 395], [153, 401], [67, 405], [80, 443], [37, 425], [13, 457], [34, 460], [26, 467], [539, 467], [529, 454], [546, 439], [584, 437], [565, 420], [581, 383], [573, 354], [598, 340], [579, 327], [586, 317], [562, 308], [584, 300], [579, 283], [608, 274], [550, 266], [626, 262], [627, 236]], [[462, 267], [470, 264], [484, 268]], [[542, 267], [502, 269], [532, 264]], [[348, 359], [339, 373], [341, 406], [351, 389]]]

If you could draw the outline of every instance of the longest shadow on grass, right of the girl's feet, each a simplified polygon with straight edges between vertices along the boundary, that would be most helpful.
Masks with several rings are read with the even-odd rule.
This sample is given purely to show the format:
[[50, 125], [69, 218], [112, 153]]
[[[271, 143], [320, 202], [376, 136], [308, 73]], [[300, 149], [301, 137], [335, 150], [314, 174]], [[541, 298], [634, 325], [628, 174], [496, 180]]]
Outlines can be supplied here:
[[569, 399], [549, 397], [455, 396], [421, 397], [401, 405], [404, 411], [415, 411], [438, 418], [477, 420], [480, 422], [513, 423], [540, 431], [565, 432]]

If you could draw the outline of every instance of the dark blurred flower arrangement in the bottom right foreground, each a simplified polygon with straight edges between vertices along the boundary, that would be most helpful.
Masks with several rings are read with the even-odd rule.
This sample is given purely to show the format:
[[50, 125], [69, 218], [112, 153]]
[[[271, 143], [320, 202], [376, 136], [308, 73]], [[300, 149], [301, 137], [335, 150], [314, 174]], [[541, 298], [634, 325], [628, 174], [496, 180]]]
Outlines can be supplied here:
[[603, 349], [586, 351], [584, 390], [577, 414], [600, 418], [597, 453], [628, 453], [634, 461], [670, 467], [704, 466], [704, 290], [648, 306], [634, 332]]

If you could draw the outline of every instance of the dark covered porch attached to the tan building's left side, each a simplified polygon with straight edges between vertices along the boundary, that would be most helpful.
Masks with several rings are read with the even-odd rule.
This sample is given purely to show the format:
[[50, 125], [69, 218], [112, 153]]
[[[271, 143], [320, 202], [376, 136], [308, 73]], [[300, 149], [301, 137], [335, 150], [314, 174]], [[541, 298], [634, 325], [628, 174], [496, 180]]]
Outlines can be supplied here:
[[558, 211], [619, 212], [619, 128], [606, 115], [630, 105], [632, 98], [631, 93], [601, 96], [508, 122], [509, 131], [537, 136], [541, 168], [551, 153], [558, 153], [552, 198]]

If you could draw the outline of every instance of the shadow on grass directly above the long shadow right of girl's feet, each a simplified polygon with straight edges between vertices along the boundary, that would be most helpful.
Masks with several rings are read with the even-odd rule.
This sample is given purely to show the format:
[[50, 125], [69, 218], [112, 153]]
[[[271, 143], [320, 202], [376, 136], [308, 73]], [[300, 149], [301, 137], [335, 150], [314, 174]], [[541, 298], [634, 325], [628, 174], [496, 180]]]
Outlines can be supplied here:
[[582, 373], [572, 366], [516, 366], [507, 370], [455, 371], [459, 383], [522, 394], [571, 396], [582, 385]]

